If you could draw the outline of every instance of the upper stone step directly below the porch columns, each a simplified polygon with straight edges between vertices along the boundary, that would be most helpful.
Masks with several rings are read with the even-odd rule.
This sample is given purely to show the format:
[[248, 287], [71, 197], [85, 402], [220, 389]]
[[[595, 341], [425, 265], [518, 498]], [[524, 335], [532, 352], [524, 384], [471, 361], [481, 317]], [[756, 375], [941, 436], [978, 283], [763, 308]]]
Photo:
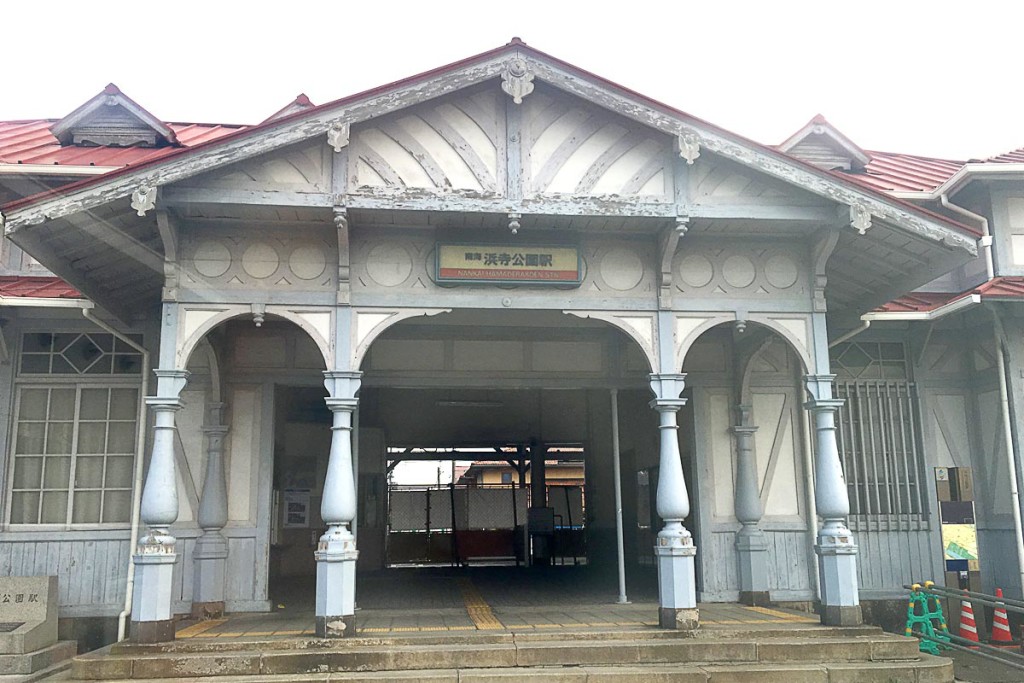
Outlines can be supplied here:
[[[658, 637], [279, 640], [264, 643], [204, 642], [162, 647], [121, 644], [76, 657], [73, 676], [84, 680], [169, 677], [266, 676], [422, 670], [501, 670], [545, 667], [647, 665], [780, 666], [817, 663], [919, 661], [913, 639], [871, 635], [816, 635], [785, 638]], [[853, 631], [852, 633], [860, 633]], [[531, 634], [532, 635], [532, 634]], [[552, 634], [555, 636], [556, 634]], [[588, 634], [590, 635], [590, 634]], [[645, 634], [647, 635], [647, 634]], [[230, 645], [231, 647], [221, 647]], [[799, 669], [799, 667], [798, 667]], [[794, 683], [794, 682], [787, 682]]]

